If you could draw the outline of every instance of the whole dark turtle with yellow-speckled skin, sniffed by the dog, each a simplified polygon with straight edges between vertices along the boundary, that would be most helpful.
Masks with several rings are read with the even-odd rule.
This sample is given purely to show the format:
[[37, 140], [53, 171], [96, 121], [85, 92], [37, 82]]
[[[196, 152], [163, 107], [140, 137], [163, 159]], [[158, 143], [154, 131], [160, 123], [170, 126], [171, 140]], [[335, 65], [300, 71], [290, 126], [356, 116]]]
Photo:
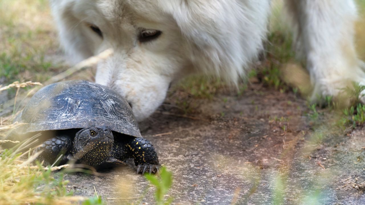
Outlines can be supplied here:
[[84, 80], [47, 85], [31, 97], [17, 121], [23, 124], [18, 134], [41, 132], [45, 141], [33, 155], [46, 164], [77, 160], [103, 168], [134, 158], [137, 174], [156, 173], [161, 166], [128, 102], [107, 86]]

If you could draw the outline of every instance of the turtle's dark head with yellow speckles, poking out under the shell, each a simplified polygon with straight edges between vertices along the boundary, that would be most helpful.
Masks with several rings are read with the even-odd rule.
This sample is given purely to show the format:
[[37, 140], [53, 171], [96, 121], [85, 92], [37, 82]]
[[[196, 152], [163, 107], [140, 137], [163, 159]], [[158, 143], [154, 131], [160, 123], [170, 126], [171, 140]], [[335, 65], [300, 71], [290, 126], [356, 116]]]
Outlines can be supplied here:
[[75, 135], [72, 154], [87, 165], [100, 165], [110, 157], [113, 143], [114, 136], [107, 127], [84, 128]]

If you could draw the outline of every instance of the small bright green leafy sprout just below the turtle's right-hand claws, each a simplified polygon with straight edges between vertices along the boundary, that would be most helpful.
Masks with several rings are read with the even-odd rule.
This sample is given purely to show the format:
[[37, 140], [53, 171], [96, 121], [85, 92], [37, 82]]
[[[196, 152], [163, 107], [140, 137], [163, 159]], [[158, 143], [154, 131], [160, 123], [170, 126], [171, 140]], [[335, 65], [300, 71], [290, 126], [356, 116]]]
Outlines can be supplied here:
[[165, 200], [165, 195], [170, 190], [172, 185], [172, 173], [167, 171], [165, 167], [161, 168], [160, 174], [151, 175], [145, 174], [146, 179], [156, 187], [155, 200], [157, 205], [168, 205], [173, 201], [173, 197]]

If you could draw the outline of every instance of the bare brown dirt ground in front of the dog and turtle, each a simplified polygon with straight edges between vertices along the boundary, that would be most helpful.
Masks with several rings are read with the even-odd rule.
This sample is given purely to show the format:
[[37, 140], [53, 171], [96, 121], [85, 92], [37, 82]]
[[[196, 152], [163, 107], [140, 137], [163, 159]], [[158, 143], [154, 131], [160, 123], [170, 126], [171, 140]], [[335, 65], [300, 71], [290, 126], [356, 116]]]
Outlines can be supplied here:
[[[197, 99], [193, 117], [170, 106], [173, 97], [140, 124], [173, 173], [166, 196], [173, 204], [365, 203], [362, 128], [317, 139], [324, 128], [305, 100], [261, 84], [242, 96], [223, 89]], [[107, 204], [154, 204], [155, 188], [130, 164], [103, 176], [68, 174], [68, 188], [82, 196], [96, 190]]]

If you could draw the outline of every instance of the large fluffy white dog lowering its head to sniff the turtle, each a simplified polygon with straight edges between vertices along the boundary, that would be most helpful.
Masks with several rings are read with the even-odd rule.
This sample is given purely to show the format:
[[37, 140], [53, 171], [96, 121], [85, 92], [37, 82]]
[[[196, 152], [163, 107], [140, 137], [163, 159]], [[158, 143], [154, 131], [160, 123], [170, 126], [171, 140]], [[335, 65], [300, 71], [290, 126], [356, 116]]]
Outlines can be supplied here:
[[[286, 0], [314, 94], [336, 96], [365, 80], [354, 48], [353, 0]], [[245, 75], [265, 39], [270, 0], [51, 0], [61, 44], [74, 62], [112, 48], [96, 82], [126, 97], [138, 120], [172, 81], [203, 72]]]

